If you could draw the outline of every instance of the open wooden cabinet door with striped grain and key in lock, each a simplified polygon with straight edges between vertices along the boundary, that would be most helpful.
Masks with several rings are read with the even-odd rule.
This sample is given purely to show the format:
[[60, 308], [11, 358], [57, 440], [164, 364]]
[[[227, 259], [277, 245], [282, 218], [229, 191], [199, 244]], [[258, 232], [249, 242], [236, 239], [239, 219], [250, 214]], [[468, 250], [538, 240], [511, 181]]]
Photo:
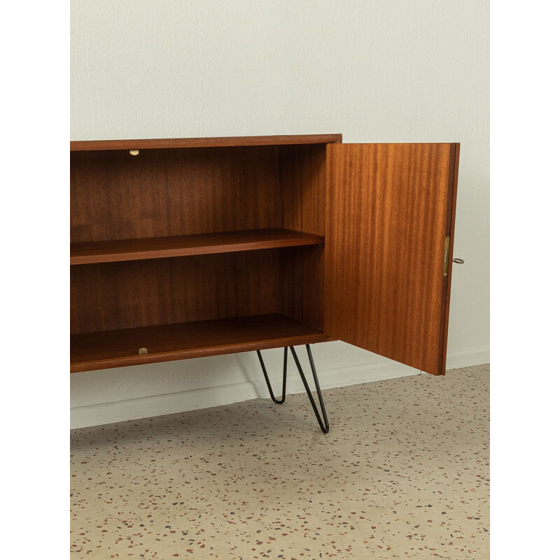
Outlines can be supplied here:
[[326, 335], [444, 374], [458, 148], [328, 144]]

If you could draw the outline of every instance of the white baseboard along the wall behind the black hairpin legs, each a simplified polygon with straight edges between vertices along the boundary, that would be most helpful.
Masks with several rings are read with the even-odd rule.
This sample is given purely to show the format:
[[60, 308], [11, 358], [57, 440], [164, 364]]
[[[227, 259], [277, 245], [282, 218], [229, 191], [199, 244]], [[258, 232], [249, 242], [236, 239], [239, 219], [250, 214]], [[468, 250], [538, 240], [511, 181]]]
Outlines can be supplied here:
[[[377, 360], [379, 360], [378, 356]], [[447, 355], [447, 369], [479, 365], [489, 363], [489, 361], [489, 347], [450, 352]], [[412, 367], [391, 360], [384, 360], [357, 366], [339, 367], [333, 370], [320, 370], [318, 371], [318, 377], [321, 381], [321, 388], [328, 389], [420, 373], [419, 370]], [[301, 379], [297, 375], [288, 376], [286, 392], [288, 394], [303, 392]], [[113, 422], [174, 414], [267, 397], [267, 386], [263, 378], [255, 381], [197, 388], [192, 391], [73, 407], [71, 408], [70, 423], [71, 428], [85, 428], [86, 426], [99, 426]]]

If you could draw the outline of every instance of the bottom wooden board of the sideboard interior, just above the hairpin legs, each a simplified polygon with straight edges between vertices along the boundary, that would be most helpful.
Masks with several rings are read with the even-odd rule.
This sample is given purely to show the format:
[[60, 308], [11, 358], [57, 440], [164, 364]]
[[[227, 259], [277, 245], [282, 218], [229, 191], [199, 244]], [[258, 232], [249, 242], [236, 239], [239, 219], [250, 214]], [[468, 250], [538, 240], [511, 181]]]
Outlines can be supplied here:
[[[89, 332], [70, 337], [70, 371], [200, 358], [327, 342], [322, 330], [280, 314]], [[148, 353], [139, 354], [146, 348]]]

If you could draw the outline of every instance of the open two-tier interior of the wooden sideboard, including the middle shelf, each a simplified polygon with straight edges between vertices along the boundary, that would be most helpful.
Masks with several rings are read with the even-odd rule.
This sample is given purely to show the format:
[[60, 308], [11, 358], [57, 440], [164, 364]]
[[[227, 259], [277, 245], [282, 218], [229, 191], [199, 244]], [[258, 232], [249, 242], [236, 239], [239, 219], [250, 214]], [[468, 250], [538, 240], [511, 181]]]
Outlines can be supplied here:
[[[149, 354], [156, 338], [153, 361], [177, 359], [162, 356], [167, 338], [154, 328], [181, 323], [200, 328], [165, 331], [169, 351], [206, 328], [195, 355], [223, 353], [228, 329], [233, 341], [236, 325], [249, 325], [255, 339], [276, 316], [279, 337], [293, 327], [318, 342], [325, 162], [326, 144], [71, 152], [75, 370], [113, 367], [103, 360], [140, 347]], [[262, 321], [242, 322], [255, 316]], [[222, 339], [212, 339], [213, 324]]]

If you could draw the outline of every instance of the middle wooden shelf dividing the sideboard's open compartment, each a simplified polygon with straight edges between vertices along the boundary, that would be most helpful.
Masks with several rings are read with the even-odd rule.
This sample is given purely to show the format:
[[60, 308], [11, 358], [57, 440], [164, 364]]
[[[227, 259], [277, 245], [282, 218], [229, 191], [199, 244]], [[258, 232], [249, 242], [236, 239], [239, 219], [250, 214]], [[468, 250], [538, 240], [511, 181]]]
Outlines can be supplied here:
[[236, 232], [177, 235], [149, 239], [120, 239], [91, 241], [70, 245], [70, 264], [87, 265], [93, 262], [116, 262], [150, 258], [232, 253], [255, 249], [318, 245], [325, 242], [322, 235], [294, 230], [267, 229]]

